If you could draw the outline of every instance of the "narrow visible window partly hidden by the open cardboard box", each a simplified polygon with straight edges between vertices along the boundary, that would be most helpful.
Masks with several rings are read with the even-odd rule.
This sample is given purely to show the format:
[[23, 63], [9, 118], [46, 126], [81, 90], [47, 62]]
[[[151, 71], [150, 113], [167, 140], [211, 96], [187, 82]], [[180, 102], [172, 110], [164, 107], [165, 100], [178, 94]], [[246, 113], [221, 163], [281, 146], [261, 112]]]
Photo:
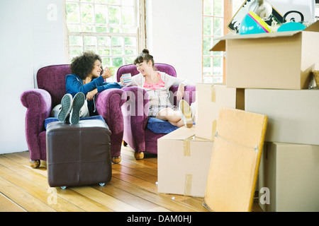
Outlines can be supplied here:
[[224, 53], [209, 50], [227, 34], [227, 23], [244, 1], [203, 0], [203, 83], [225, 82]]

